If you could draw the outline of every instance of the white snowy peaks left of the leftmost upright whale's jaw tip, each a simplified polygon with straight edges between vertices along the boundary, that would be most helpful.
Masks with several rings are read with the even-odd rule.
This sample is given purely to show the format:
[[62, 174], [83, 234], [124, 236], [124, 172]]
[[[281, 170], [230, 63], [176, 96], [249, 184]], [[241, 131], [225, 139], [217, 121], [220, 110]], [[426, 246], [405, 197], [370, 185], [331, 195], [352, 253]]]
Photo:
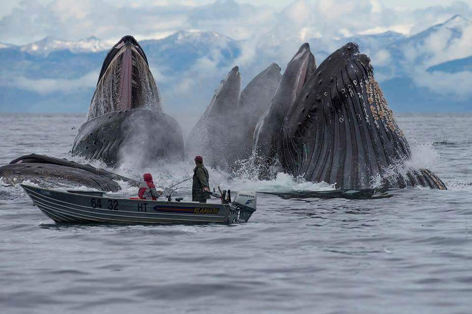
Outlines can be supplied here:
[[53, 51], [68, 50], [70, 52], [98, 52], [110, 49], [96, 37], [89, 37], [79, 41], [65, 41], [48, 36], [34, 43], [20, 46], [20, 51], [32, 54], [47, 55]]

